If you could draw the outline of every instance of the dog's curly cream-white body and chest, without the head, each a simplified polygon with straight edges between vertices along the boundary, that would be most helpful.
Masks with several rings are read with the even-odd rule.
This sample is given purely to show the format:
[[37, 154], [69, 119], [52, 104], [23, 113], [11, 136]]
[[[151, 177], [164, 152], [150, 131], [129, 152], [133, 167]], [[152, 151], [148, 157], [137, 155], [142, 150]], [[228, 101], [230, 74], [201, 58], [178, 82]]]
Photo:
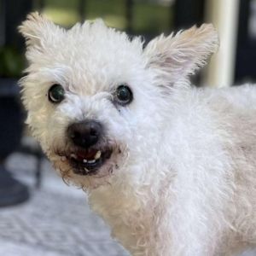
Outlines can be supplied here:
[[135, 255], [241, 253], [256, 239], [256, 88], [188, 88], [176, 100], [164, 143], [137, 166], [143, 183], [96, 189], [91, 206]]

